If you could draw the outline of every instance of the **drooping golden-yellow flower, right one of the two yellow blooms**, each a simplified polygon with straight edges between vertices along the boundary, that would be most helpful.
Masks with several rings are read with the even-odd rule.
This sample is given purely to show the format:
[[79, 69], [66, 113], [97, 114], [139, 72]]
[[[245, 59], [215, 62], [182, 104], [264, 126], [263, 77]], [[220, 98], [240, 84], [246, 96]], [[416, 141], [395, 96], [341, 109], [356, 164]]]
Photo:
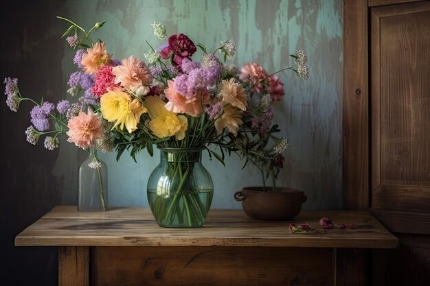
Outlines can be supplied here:
[[165, 103], [157, 96], [148, 96], [145, 99], [148, 108], [149, 129], [159, 138], [175, 135], [177, 140], [185, 138], [185, 131], [188, 128], [187, 117], [177, 115], [164, 107]]

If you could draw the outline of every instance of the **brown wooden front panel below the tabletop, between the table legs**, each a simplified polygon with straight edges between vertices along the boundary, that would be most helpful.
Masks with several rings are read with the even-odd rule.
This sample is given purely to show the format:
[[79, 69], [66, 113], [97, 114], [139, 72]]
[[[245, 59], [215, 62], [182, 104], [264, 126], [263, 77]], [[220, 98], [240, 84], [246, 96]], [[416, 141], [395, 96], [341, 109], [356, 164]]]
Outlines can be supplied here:
[[93, 285], [333, 285], [326, 248], [95, 247]]

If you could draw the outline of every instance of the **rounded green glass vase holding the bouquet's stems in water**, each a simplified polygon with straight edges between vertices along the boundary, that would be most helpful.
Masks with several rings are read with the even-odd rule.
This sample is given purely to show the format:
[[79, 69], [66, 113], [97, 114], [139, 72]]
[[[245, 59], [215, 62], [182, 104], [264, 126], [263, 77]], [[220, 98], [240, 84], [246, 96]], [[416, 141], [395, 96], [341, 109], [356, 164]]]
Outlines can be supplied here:
[[148, 179], [148, 202], [159, 226], [199, 228], [212, 204], [214, 184], [201, 164], [202, 148], [161, 148]]

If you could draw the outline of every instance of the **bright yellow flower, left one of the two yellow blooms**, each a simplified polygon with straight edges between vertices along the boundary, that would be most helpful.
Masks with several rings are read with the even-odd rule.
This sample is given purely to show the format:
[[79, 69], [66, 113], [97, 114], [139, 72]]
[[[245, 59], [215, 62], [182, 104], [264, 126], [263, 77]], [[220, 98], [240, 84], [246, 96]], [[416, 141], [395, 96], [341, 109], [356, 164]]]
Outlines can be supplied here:
[[129, 133], [137, 129], [140, 116], [147, 111], [137, 99], [119, 88], [100, 97], [100, 109], [104, 119], [115, 122], [113, 128], [119, 126], [120, 130], [124, 130], [125, 126]]

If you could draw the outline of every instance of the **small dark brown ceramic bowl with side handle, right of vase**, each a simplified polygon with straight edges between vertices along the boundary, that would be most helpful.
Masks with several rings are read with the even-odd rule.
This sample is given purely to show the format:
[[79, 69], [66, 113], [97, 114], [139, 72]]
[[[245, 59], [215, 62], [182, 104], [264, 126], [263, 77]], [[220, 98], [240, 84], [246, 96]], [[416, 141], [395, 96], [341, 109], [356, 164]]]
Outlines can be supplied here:
[[307, 198], [303, 191], [277, 188], [277, 191], [262, 191], [262, 187], [245, 187], [234, 194], [242, 202], [243, 211], [251, 219], [292, 220], [302, 210]]

